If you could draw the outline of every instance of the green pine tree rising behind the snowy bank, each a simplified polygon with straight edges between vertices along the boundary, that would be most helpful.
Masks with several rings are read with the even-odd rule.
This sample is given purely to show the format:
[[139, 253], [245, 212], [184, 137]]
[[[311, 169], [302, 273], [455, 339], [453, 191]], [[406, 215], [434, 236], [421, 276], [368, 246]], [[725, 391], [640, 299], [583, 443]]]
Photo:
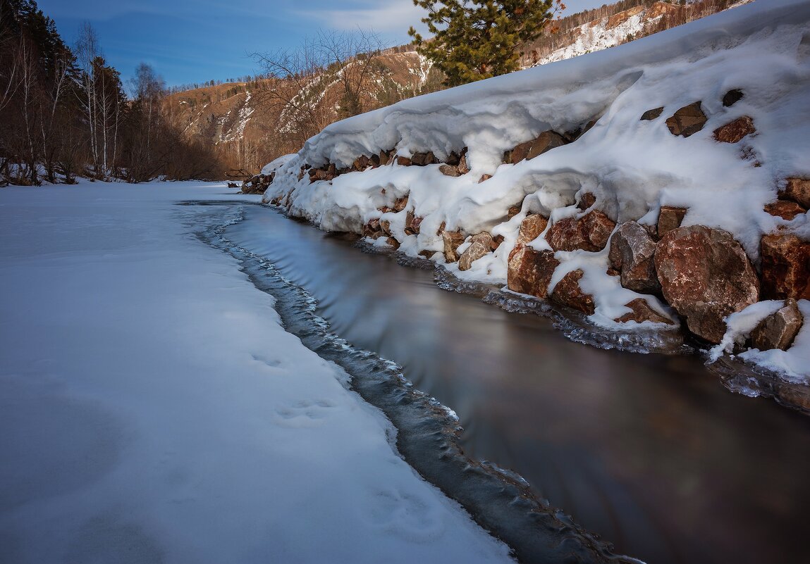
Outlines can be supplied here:
[[565, 6], [560, 0], [413, 0], [428, 11], [432, 39], [408, 30], [416, 50], [458, 86], [518, 70], [519, 48], [535, 40]]

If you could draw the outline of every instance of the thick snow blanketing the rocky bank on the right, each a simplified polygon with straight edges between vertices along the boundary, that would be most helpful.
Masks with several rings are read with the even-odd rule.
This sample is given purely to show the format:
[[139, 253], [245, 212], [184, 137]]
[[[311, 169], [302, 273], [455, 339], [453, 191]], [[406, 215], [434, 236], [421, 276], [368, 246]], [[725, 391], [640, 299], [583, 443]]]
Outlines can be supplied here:
[[[538, 212], [553, 223], [582, 214], [574, 204], [586, 192], [618, 223], [655, 223], [661, 206], [687, 207], [684, 226], [731, 232], [756, 263], [765, 233], [810, 238], [808, 214], [787, 222], [763, 210], [787, 177], [810, 176], [808, 37], [810, 2], [753, 2], [599, 53], [403, 100], [310, 138], [279, 168], [264, 201], [283, 198], [292, 215], [329, 231], [360, 232], [369, 220], [385, 219], [399, 250], [411, 256], [443, 248], [441, 223], [467, 235], [502, 235], [503, 244], [467, 272], [445, 265], [463, 280], [500, 285], [522, 219]], [[723, 95], [735, 88], [744, 98], [724, 107]], [[672, 135], [667, 117], [697, 100], [708, 117], [704, 128], [689, 138]], [[660, 117], [640, 121], [661, 106]], [[714, 129], [742, 116], [752, 117], [755, 134], [734, 144], [714, 140]], [[504, 151], [545, 130], [572, 132], [594, 120], [573, 143], [502, 163]], [[305, 164], [350, 167], [360, 155], [392, 147], [403, 156], [433, 151], [439, 160], [467, 147], [471, 172], [450, 177], [438, 165], [393, 163], [332, 181], [298, 180]], [[484, 174], [493, 176], [480, 182]], [[407, 210], [378, 210], [405, 195]], [[521, 207], [511, 219], [510, 206]], [[408, 212], [424, 218], [418, 235], [404, 233]], [[544, 244], [541, 235], [534, 246]], [[653, 296], [617, 286], [605, 273], [607, 252], [556, 258], [555, 281], [571, 269], [585, 272], [583, 290], [592, 290], [596, 303], [592, 323], [629, 329], [614, 319], [637, 297], [671, 316]]]

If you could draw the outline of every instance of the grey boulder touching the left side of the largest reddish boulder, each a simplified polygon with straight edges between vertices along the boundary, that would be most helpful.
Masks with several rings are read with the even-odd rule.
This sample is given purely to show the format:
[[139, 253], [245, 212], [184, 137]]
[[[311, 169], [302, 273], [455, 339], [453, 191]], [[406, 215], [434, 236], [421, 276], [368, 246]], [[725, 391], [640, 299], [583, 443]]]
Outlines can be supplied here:
[[661, 289], [655, 276], [655, 241], [634, 221], [622, 223], [610, 241], [608, 261], [621, 276], [621, 285], [639, 294], [655, 294]]

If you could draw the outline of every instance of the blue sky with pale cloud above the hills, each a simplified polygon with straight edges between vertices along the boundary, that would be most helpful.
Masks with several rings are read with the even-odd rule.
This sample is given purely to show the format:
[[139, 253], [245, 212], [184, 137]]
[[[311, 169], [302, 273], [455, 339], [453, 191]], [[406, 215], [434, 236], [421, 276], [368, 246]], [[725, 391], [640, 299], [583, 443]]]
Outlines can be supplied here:
[[[570, 0], [565, 14], [605, 0]], [[70, 45], [89, 21], [126, 81], [141, 62], [168, 86], [255, 74], [249, 53], [295, 48], [318, 29], [373, 29], [386, 45], [408, 42], [424, 11], [411, 0], [37, 0]]]

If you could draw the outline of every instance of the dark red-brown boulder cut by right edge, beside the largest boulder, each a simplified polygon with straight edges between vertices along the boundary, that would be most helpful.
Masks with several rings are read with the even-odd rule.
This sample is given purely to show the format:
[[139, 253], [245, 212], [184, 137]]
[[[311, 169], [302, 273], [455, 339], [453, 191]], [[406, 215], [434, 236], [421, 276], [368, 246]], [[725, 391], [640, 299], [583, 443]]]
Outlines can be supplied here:
[[763, 299], [810, 299], [810, 243], [792, 234], [763, 235]]

